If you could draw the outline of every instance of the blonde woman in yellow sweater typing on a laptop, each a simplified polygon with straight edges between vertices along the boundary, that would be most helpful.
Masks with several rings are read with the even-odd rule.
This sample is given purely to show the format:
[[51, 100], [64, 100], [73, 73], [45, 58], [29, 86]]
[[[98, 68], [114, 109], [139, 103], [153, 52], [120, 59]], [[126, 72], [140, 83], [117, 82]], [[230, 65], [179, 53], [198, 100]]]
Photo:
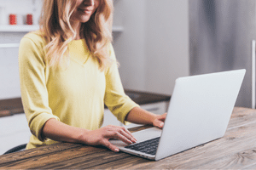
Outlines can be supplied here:
[[20, 88], [32, 132], [26, 148], [56, 142], [136, 142], [125, 127], [102, 127], [104, 104], [121, 122], [163, 127], [124, 93], [111, 45], [112, 0], [44, 0], [40, 31], [20, 42]]

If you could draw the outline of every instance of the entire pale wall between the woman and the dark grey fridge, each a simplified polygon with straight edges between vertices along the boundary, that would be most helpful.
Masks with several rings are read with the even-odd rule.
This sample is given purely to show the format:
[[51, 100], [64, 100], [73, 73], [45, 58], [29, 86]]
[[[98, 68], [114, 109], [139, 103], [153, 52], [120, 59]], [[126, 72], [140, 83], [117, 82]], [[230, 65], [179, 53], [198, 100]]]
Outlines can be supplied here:
[[125, 88], [172, 94], [189, 76], [188, 0], [121, 0], [122, 32], [114, 48]]

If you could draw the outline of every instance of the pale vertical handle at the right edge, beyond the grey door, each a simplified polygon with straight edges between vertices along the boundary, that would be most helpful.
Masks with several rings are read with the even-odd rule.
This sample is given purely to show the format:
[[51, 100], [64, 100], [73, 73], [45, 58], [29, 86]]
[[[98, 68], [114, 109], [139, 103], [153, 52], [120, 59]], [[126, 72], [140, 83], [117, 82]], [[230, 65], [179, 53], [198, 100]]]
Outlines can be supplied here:
[[256, 53], [256, 41], [252, 41], [252, 108], [255, 109], [255, 86], [256, 86], [256, 80], [255, 80], [255, 53]]

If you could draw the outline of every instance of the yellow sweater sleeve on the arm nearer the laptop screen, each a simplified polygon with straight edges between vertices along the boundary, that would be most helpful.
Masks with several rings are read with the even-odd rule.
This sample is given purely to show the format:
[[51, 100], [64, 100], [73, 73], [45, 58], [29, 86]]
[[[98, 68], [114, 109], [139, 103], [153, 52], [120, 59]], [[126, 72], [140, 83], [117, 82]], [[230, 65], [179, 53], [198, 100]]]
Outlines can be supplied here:
[[113, 51], [113, 46], [110, 44], [109, 47], [113, 64], [109, 66], [106, 71], [106, 93], [104, 102], [113, 115], [116, 116], [120, 122], [126, 124], [126, 115], [131, 111], [132, 108], [139, 107], [139, 105], [133, 102], [125, 94], [119, 77], [118, 65]]

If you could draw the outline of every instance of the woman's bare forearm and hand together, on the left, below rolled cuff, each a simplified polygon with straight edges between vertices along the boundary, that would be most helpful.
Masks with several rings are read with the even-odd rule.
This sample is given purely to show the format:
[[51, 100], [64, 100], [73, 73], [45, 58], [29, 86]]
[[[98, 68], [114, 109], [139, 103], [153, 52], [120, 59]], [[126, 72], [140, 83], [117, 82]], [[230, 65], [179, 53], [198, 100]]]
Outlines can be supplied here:
[[132, 144], [137, 141], [125, 127], [109, 125], [96, 130], [87, 130], [71, 127], [55, 119], [49, 119], [45, 122], [42, 135], [43, 139], [49, 138], [62, 142], [103, 145], [113, 151], [119, 151], [119, 148], [111, 144], [108, 139], [119, 139], [125, 144]]

